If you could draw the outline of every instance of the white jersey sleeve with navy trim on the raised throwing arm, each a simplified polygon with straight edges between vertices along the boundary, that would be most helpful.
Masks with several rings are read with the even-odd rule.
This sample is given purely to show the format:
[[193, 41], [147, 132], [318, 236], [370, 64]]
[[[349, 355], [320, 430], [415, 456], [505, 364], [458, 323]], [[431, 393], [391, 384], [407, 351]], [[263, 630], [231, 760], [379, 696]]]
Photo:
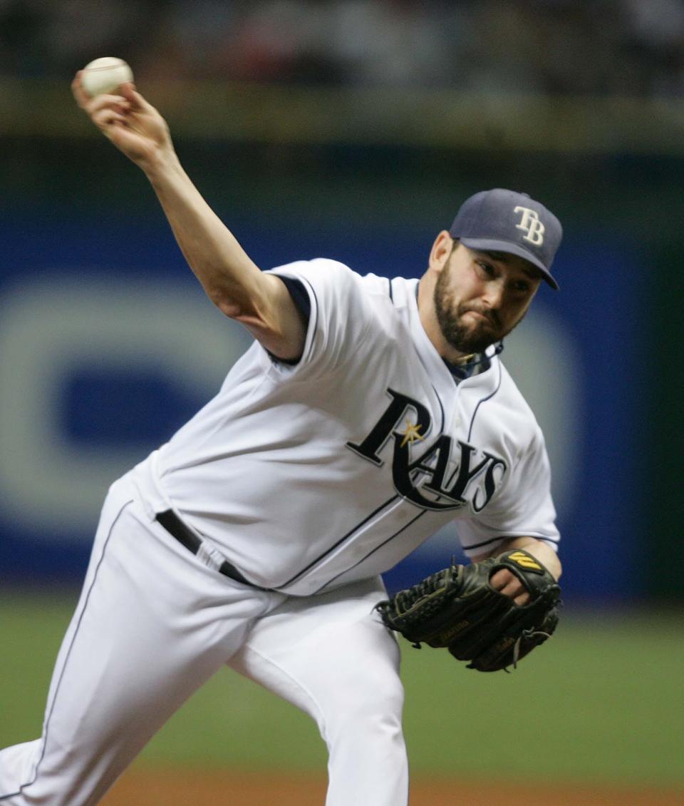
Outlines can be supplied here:
[[372, 321], [361, 277], [348, 266], [324, 258], [299, 260], [270, 272], [299, 280], [310, 303], [301, 358], [287, 364], [270, 356], [275, 370], [303, 375], [342, 364], [365, 338]]

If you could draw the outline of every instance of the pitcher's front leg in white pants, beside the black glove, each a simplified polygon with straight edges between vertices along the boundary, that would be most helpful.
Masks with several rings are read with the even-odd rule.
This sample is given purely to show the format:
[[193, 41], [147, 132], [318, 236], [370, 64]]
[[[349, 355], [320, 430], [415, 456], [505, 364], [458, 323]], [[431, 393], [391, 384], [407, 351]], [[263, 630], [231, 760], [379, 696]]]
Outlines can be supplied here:
[[407, 803], [399, 650], [373, 613], [383, 595], [373, 581], [290, 598], [229, 662], [315, 719], [328, 746], [326, 806]]

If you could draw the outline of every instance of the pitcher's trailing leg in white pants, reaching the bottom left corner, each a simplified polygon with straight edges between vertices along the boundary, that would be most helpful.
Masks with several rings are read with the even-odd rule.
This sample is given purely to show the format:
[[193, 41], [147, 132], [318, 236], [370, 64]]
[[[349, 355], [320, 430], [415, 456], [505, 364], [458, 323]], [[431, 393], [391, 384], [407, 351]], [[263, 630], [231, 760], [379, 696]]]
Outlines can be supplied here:
[[0, 753], [0, 806], [97, 804], [142, 746], [282, 600], [204, 567], [110, 494], [39, 742]]

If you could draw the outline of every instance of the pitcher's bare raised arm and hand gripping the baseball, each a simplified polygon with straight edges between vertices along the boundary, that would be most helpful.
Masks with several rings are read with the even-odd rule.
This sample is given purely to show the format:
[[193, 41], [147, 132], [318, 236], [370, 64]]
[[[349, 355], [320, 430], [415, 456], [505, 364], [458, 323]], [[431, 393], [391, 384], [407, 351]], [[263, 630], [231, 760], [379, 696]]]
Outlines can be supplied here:
[[132, 84], [117, 95], [89, 98], [76, 73], [72, 91], [93, 123], [145, 172], [209, 299], [273, 355], [299, 358], [305, 333], [289, 292], [278, 277], [260, 271], [204, 201], [183, 171], [159, 112]]

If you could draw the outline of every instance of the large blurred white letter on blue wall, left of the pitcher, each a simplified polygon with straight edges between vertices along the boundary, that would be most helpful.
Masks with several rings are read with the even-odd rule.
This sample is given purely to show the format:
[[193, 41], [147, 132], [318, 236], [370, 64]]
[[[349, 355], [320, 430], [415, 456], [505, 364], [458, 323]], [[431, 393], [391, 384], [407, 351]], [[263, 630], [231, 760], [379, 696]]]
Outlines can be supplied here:
[[208, 400], [249, 344], [239, 325], [185, 286], [44, 276], [0, 297], [0, 513], [19, 528], [84, 534], [109, 484], [156, 445], [103, 451], [63, 433], [76, 367], [165, 375]]

